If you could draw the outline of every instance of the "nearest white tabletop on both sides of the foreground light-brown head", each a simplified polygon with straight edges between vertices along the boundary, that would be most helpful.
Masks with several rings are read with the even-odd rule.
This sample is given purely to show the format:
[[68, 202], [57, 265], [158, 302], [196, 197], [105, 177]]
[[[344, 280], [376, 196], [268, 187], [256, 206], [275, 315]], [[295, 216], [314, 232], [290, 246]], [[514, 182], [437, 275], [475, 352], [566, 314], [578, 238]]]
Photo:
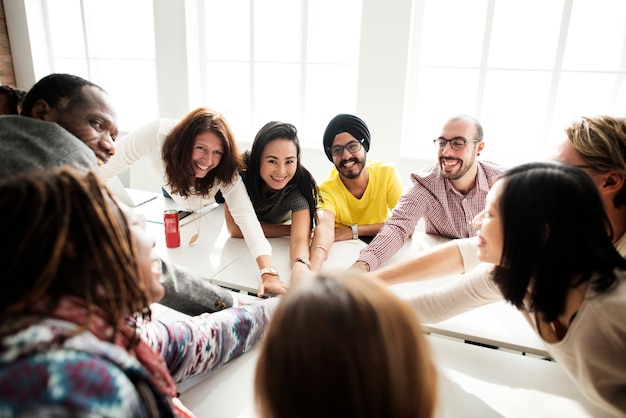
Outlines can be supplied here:
[[[556, 363], [429, 336], [440, 372], [437, 417], [604, 417]], [[197, 416], [254, 417], [258, 347], [181, 395]]]

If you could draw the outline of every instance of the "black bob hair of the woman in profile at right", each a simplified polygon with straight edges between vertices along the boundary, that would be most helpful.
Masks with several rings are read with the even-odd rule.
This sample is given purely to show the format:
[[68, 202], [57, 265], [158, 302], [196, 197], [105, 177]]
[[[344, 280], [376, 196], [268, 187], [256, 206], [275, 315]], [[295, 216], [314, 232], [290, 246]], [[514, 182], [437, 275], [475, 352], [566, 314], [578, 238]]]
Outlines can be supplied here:
[[[603, 292], [626, 260], [611, 243], [612, 229], [596, 186], [582, 170], [554, 162], [506, 171], [499, 200], [503, 250], [493, 279], [505, 299], [550, 322], [563, 311], [570, 288], [590, 281]], [[592, 278], [594, 273], [599, 273]], [[530, 289], [529, 289], [530, 288]]]

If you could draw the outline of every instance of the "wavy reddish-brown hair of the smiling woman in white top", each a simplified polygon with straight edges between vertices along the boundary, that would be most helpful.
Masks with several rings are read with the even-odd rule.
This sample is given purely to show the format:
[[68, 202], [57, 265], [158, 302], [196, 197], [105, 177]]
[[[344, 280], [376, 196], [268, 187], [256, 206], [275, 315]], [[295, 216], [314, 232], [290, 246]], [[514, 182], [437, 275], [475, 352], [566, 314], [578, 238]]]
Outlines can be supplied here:
[[[224, 153], [220, 163], [203, 178], [193, 177], [191, 155], [196, 137], [213, 132], [222, 140]], [[200, 107], [191, 111], [170, 131], [163, 143], [162, 154], [167, 181], [172, 193], [207, 196], [217, 183], [230, 184], [242, 167], [235, 135], [226, 118], [213, 109]]]

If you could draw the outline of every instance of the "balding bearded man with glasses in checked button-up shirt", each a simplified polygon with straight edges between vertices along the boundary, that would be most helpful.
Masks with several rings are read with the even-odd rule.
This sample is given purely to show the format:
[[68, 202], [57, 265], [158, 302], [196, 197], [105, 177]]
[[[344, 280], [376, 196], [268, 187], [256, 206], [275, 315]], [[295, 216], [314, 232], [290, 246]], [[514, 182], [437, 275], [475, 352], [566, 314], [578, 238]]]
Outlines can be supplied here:
[[378, 268], [402, 247], [421, 218], [427, 234], [447, 238], [476, 235], [472, 220], [485, 207], [487, 192], [504, 168], [476, 159], [485, 143], [482, 126], [471, 116], [449, 119], [433, 144], [438, 163], [411, 175], [413, 187], [402, 195], [353, 267], [364, 271]]

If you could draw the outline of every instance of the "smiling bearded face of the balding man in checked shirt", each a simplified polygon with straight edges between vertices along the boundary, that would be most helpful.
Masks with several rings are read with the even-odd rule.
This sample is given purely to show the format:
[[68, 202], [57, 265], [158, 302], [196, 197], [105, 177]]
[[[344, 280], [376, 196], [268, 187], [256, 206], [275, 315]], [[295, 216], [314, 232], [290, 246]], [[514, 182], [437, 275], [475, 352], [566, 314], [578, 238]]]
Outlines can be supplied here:
[[[476, 127], [465, 119], [456, 119], [447, 122], [439, 138], [465, 138], [468, 141], [476, 139]], [[450, 143], [439, 150], [439, 165], [441, 175], [448, 180], [459, 180], [476, 170], [476, 156], [482, 151], [485, 144], [481, 142], [467, 143], [460, 150], [453, 150]]]

